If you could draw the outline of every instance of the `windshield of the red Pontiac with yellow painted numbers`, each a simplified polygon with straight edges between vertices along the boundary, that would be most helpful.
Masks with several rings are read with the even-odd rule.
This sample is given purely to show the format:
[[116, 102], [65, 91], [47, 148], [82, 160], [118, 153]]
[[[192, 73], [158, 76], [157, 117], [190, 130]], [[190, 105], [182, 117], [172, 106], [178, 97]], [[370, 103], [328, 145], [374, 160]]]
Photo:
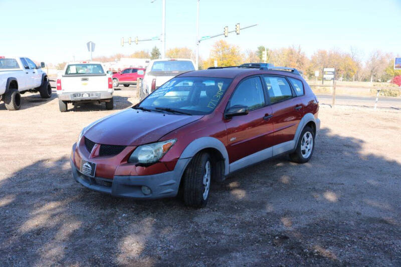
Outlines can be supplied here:
[[151, 93], [139, 107], [170, 109], [191, 115], [209, 114], [215, 110], [231, 81], [227, 78], [176, 77]]

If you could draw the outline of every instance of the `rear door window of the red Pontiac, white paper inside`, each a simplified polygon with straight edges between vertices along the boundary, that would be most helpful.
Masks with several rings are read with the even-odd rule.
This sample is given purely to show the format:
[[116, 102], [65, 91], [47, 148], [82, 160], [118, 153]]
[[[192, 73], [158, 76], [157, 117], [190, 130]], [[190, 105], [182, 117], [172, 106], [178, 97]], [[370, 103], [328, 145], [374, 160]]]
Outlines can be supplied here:
[[274, 104], [292, 98], [291, 87], [283, 77], [265, 76], [270, 103]]

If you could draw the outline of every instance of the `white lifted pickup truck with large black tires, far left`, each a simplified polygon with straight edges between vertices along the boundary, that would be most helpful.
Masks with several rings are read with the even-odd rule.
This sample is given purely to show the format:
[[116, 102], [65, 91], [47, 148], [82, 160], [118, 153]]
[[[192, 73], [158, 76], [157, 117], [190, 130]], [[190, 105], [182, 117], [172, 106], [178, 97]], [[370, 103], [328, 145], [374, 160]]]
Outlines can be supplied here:
[[26, 57], [0, 57], [0, 100], [3, 100], [8, 110], [18, 110], [21, 107], [21, 94], [39, 92], [42, 98], [52, 96], [52, 87], [47, 74], [41, 66]]

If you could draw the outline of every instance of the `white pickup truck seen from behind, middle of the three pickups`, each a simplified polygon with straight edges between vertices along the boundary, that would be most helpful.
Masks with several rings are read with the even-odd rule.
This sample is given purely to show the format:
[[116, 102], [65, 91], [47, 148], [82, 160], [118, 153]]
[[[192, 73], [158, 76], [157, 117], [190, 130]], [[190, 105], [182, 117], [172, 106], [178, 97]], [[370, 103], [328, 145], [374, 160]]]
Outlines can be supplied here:
[[100, 62], [66, 64], [56, 83], [60, 111], [67, 111], [68, 103], [75, 105], [79, 102], [105, 102], [106, 109], [113, 109], [113, 81], [104, 69]]

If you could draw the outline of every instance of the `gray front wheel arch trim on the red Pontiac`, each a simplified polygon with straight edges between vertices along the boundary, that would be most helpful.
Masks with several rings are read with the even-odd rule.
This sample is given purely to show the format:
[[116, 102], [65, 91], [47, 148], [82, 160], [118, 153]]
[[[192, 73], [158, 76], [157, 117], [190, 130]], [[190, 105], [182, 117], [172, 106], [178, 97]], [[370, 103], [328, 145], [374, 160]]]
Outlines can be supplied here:
[[[180, 159], [183, 158], [191, 158], [197, 152], [207, 148], [215, 148], [220, 151], [224, 158], [224, 173], [225, 175], [229, 174], [229, 155], [227, 153], [225, 145], [217, 138], [214, 137], [200, 137], [198, 139], [193, 140], [189, 145], [187, 145], [184, 151], [181, 153]], [[186, 166], [185, 166], [186, 167]]]

